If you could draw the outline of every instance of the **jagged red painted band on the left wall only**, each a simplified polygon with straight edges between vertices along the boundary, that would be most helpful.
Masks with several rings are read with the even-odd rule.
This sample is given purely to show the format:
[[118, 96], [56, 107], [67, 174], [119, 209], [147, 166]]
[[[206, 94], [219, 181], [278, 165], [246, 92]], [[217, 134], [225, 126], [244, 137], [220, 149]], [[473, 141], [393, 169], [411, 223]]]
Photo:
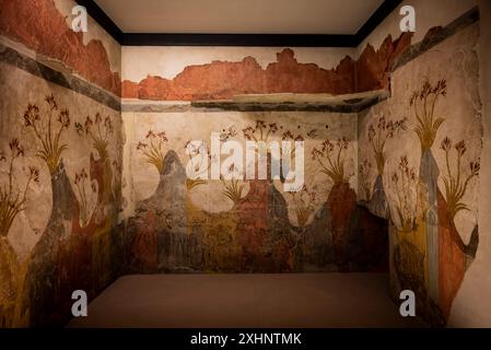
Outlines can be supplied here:
[[37, 54], [60, 60], [87, 81], [120, 95], [121, 82], [112, 72], [101, 40], [83, 43], [52, 0], [0, 0], [0, 34], [20, 42]]

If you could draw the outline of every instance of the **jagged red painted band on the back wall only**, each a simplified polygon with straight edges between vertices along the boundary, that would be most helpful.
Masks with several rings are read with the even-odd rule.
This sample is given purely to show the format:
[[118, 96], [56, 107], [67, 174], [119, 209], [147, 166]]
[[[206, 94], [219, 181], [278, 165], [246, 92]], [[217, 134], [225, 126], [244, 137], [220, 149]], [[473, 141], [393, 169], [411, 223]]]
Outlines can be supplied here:
[[127, 98], [192, 101], [231, 98], [235, 94], [334, 93], [354, 91], [354, 61], [346, 57], [337, 68], [299, 63], [291, 49], [262, 69], [254, 57], [239, 62], [213, 61], [189, 66], [173, 80], [147, 77], [139, 83], [122, 82]]

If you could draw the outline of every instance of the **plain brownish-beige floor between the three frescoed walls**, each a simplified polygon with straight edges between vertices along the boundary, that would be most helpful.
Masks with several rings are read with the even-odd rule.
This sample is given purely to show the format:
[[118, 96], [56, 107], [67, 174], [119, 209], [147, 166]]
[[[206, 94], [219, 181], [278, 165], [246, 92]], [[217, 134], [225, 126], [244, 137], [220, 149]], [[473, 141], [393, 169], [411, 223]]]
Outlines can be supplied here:
[[69, 327], [417, 327], [384, 273], [147, 275], [118, 279]]

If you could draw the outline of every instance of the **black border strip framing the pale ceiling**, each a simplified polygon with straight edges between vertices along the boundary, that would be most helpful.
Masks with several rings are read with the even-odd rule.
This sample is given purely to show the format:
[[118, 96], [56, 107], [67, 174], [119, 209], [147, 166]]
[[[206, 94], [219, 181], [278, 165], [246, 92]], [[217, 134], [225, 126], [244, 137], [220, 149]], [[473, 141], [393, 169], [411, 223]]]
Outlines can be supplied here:
[[124, 46], [261, 46], [261, 47], [356, 47], [402, 0], [385, 0], [352, 35], [337, 34], [184, 34], [122, 33], [93, 0], [75, 0]]

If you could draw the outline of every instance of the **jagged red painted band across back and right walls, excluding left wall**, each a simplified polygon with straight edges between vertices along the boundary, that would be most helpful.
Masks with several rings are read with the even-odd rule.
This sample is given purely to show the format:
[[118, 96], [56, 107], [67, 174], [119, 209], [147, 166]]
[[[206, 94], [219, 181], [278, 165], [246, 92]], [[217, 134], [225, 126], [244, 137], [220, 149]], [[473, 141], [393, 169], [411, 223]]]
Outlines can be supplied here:
[[239, 62], [213, 61], [188, 66], [174, 79], [147, 77], [139, 83], [125, 80], [122, 97], [155, 101], [223, 100], [235, 94], [331, 93], [387, 89], [393, 61], [411, 45], [412, 34], [390, 35], [375, 51], [370, 44], [358, 61], [344, 57], [330, 70], [299, 63], [292, 49], [277, 54], [277, 61], [262, 69], [254, 57]]

